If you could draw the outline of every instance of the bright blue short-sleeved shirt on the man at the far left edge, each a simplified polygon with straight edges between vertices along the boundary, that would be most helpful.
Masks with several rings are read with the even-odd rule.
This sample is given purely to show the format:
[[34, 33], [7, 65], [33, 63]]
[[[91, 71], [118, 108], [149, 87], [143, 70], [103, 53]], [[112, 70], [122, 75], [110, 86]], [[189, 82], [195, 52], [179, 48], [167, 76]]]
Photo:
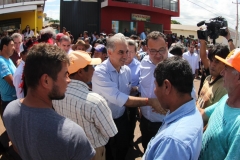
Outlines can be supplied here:
[[15, 88], [10, 86], [4, 79], [4, 77], [10, 74], [13, 75], [15, 70], [16, 67], [10, 58], [6, 59], [0, 56], [0, 92], [3, 101], [12, 101], [17, 98]]

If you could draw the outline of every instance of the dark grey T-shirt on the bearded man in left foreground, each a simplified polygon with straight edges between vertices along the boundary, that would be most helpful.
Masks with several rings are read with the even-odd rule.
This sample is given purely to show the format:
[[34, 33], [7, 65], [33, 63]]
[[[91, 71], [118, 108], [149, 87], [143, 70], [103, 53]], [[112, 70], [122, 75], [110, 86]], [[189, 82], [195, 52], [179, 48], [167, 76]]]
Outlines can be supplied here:
[[90, 160], [95, 150], [83, 129], [51, 108], [25, 106], [12, 101], [3, 122], [22, 159]]

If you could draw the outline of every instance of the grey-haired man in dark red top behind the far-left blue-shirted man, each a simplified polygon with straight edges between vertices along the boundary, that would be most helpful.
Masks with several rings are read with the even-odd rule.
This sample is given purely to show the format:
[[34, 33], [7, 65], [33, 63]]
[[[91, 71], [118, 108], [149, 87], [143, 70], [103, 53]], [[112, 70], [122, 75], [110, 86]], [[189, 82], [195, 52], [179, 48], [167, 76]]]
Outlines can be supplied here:
[[21, 50], [23, 50], [22, 49], [22, 35], [19, 33], [14, 33], [11, 37], [13, 39], [15, 49], [10, 58], [13, 61], [14, 65], [17, 67], [19, 64], [19, 60], [21, 59], [20, 52], [21, 52]]

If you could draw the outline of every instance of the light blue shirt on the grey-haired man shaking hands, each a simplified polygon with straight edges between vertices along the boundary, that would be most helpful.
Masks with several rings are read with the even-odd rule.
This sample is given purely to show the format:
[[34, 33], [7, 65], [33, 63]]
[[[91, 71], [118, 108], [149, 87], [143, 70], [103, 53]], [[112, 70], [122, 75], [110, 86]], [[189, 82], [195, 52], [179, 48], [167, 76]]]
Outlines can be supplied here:
[[108, 58], [95, 67], [93, 91], [105, 98], [113, 119], [121, 117], [125, 112], [124, 104], [128, 100], [131, 86], [131, 70], [128, 66], [122, 66], [118, 72]]

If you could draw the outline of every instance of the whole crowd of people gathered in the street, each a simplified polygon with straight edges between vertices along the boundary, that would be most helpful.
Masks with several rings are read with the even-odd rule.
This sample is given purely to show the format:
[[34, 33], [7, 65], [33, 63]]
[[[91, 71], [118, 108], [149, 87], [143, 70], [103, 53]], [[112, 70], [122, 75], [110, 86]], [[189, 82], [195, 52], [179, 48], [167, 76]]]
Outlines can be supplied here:
[[239, 159], [240, 50], [225, 38], [208, 48], [159, 31], [5, 35], [1, 137], [19, 159], [124, 160], [139, 117], [143, 160]]

